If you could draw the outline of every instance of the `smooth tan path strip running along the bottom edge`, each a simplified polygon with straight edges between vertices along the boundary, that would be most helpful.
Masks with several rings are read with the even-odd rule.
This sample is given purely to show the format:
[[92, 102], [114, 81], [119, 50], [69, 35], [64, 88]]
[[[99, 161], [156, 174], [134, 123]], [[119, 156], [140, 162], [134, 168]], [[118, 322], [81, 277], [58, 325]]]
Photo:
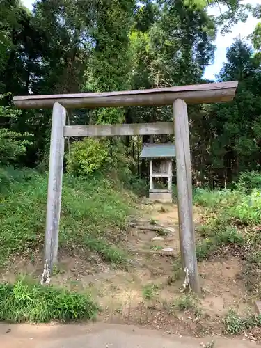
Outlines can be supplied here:
[[[6, 333], [10, 330], [8, 333]], [[246, 340], [220, 337], [183, 338], [131, 325], [89, 324], [30, 326], [0, 324], [4, 348], [251, 348]]]

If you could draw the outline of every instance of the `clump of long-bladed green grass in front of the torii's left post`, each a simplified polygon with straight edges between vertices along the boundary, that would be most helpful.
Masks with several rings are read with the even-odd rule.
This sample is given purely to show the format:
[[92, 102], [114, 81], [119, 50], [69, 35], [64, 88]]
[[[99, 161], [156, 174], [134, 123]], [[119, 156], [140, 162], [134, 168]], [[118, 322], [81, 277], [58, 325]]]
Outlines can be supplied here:
[[0, 320], [6, 322], [68, 322], [94, 319], [97, 305], [88, 294], [26, 283], [0, 284]]

